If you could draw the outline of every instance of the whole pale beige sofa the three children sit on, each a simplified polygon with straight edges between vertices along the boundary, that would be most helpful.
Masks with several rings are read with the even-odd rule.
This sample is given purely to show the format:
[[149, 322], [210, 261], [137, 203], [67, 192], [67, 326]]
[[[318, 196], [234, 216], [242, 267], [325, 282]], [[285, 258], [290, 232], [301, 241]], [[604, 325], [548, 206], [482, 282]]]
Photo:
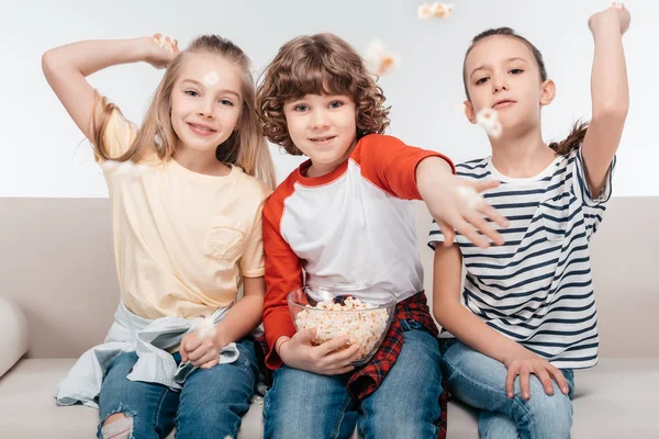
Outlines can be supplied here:
[[[53, 392], [118, 304], [108, 200], [0, 199], [0, 438], [91, 438], [97, 410]], [[658, 216], [659, 198], [613, 199], [593, 239], [601, 361], [576, 374], [574, 438], [659, 438]], [[421, 204], [417, 219], [431, 291]], [[261, 436], [255, 403], [238, 437]], [[449, 403], [448, 438], [477, 437], [476, 414]]]

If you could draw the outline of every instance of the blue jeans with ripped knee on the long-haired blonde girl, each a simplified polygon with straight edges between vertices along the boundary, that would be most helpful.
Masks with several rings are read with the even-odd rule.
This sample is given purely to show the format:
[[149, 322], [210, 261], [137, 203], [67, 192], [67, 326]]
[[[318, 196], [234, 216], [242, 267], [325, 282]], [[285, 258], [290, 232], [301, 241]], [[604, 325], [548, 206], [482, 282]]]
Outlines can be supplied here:
[[[235, 438], [258, 378], [253, 339], [247, 337], [236, 346], [241, 356], [235, 362], [197, 369], [181, 391], [127, 380], [137, 354], [122, 353], [110, 365], [101, 386], [97, 436], [101, 438], [109, 416], [123, 413], [132, 418], [131, 437], [136, 439], [165, 438], [174, 427], [177, 438]], [[179, 353], [174, 358], [180, 362]]]

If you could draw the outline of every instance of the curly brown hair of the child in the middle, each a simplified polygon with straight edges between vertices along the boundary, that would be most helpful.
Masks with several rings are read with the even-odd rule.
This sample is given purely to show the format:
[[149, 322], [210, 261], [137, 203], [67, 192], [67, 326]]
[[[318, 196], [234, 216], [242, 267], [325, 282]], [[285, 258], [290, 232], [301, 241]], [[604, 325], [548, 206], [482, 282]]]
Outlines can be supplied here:
[[287, 153], [301, 156], [291, 139], [283, 104], [306, 94], [345, 94], [355, 101], [357, 138], [382, 134], [390, 106], [357, 50], [331, 33], [298, 36], [286, 43], [266, 67], [256, 92], [264, 134]]

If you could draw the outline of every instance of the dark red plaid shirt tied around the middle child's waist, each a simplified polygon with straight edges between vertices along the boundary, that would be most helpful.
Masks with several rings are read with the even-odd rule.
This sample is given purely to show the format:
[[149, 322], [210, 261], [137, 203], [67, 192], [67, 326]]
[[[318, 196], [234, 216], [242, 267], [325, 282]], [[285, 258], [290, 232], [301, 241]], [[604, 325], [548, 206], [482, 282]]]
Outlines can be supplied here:
[[[347, 387], [353, 398], [361, 401], [373, 393], [380, 386], [391, 368], [393, 368], [393, 364], [395, 364], [395, 360], [401, 353], [404, 342], [401, 320], [415, 320], [433, 336], [438, 337], [439, 335], [435, 320], [433, 320], [433, 317], [431, 316], [426, 296], [423, 291], [414, 294], [412, 297], [399, 302], [395, 305], [393, 322], [387, 333], [387, 337], [384, 337], [384, 341], [382, 341], [382, 345], [380, 345], [380, 348], [373, 358], [366, 363], [364, 368], [355, 372], [353, 376], [350, 376], [350, 380], [348, 380]], [[265, 364], [265, 358], [269, 349], [265, 336], [256, 339], [255, 344], [257, 347], [257, 357], [259, 357], [260, 362]], [[263, 369], [266, 374], [267, 383], [271, 383], [272, 371], [265, 367]], [[442, 380], [442, 386], [444, 389], [439, 396], [442, 415], [439, 419], [435, 421], [435, 425], [439, 427], [437, 439], [446, 439], [447, 428], [446, 414], [449, 394], [444, 379]]]

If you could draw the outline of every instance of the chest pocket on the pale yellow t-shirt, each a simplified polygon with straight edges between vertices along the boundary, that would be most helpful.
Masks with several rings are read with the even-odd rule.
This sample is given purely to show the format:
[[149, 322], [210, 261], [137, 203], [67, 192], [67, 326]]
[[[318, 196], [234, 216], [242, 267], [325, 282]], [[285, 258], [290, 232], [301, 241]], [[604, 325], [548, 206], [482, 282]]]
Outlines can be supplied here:
[[228, 216], [213, 216], [202, 254], [222, 261], [235, 262], [242, 256], [244, 247], [245, 227]]

